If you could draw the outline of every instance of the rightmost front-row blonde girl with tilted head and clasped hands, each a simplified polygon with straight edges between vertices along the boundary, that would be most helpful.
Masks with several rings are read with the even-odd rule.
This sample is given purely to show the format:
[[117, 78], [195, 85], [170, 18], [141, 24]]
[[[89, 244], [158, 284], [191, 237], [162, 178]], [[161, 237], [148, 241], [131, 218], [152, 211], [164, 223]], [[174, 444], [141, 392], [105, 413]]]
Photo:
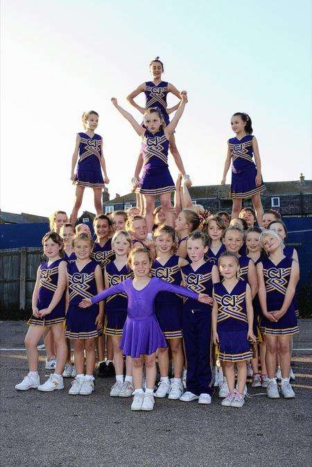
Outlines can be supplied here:
[[263, 313], [266, 340], [266, 367], [269, 382], [268, 397], [279, 398], [275, 368], [277, 353], [281, 366], [281, 393], [285, 398], [295, 397], [289, 383], [291, 367], [291, 336], [299, 331], [293, 297], [299, 280], [299, 265], [283, 253], [281, 238], [273, 230], [262, 232], [261, 243], [268, 254], [257, 265], [259, 301]]

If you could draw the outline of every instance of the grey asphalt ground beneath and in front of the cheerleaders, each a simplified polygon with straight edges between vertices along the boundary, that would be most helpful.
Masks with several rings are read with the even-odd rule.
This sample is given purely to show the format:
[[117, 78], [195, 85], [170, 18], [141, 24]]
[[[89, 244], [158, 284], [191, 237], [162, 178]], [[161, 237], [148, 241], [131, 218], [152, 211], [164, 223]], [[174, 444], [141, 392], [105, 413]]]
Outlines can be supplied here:
[[[312, 320], [301, 319], [295, 336], [295, 399], [248, 387], [241, 409], [214, 396], [207, 406], [157, 399], [153, 412], [110, 397], [114, 378], [98, 378], [91, 396], [69, 396], [69, 379], [53, 393], [15, 390], [28, 372], [26, 324], [0, 326], [1, 466], [311, 466]], [[44, 352], [39, 371], [43, 382]]]

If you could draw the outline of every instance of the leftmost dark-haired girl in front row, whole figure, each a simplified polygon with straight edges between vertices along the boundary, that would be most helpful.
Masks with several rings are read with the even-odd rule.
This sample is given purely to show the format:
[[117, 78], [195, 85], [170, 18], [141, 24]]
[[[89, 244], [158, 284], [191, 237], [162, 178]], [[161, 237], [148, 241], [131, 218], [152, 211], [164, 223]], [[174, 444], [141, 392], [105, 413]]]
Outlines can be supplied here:
[[[63, 241], [56, 232], [49, 232], [42, 238], [44, 256], [47, 261], [37, 270], [37, 279], [33, 291], [33, 316], [28, 321], [29, 328], [25, 337], [29, 373], [15, 386], [26, 391], [37, 388], [40, 391], [63, 389], [62, 371], [67, 359], [67, 345], [63, 333], [63, 321], [66, 313], [66, 261], [63, 261]], [[40, 385], [38, 375], [39, 354], [37, 344], [40, 337], [51, 329], [56, 347], [55, 372], [49, 380]]]

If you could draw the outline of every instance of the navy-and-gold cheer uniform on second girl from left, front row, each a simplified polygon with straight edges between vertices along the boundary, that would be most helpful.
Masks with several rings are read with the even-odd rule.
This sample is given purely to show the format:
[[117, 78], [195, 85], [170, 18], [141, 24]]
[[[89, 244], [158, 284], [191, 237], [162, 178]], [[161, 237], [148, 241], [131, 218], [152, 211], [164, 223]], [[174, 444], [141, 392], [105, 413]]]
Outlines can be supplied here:
[[98, 305], [89, 308], [79, 308], [83, 299], [91, 299], [97, 292], [95, 270], [98, 263], [90, 261], [78, 270], [76, 261], [67, 265], [69, 282], [69, 308], [66, 316], [65, 335], [69, 339], [89, 339], [98, 337], [103, 329], [96, 327], [95, 321], [98, 316]]

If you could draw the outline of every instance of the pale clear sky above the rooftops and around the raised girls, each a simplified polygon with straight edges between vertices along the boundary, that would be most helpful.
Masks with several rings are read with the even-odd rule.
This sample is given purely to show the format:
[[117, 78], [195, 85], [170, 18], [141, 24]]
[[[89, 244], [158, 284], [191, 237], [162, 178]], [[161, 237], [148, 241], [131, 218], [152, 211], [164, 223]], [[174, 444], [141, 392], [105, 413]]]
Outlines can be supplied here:
[[[125, 96], [156, 55], [164, 80], [189, 93], [175, 137], [193, 185], [220, 183], [234, 112], [252, 118], [265, 181], [311, 178], [310, 0], [3, 0], [1, 10], [3, 211], [70, 213], [88, 109], [100, 114], [110, 196], [129, 193], [140, 141], [110, 98], [141, 121]], [[92, 195], [83, 210], [94, 212]]]

